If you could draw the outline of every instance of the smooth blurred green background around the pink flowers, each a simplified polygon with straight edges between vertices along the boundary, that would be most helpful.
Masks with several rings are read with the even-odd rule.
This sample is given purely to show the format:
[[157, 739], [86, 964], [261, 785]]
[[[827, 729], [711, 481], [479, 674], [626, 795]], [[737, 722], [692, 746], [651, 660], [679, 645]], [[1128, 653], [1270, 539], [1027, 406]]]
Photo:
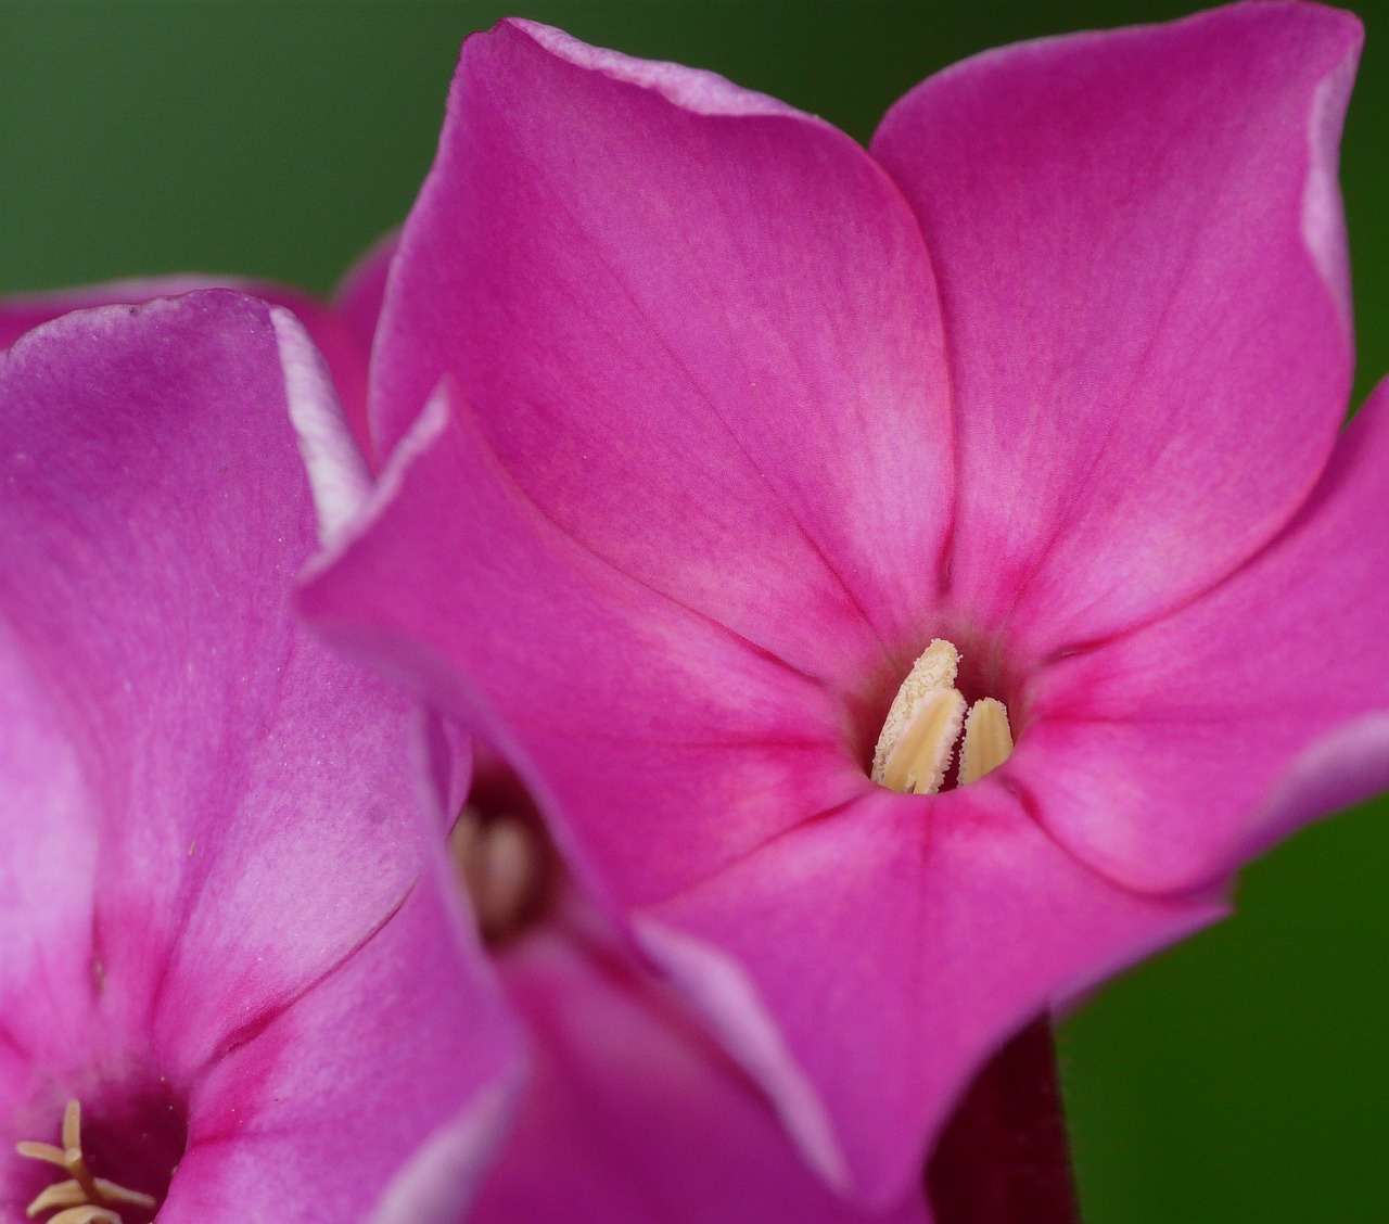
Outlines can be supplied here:
[[[328, 290], [410, 207], [458, 42], [506, 11], [714, 68], [867, 140], [972, 51], [1192, 7], [0, 0], [0, 290], [179, 270]], [[1389, 3], [1360, 13], [1342, 161], [1357, 400], [1389, 371]], [[1379, 802], [1251, 867], [1235, 918], [1070, 1020], [1092, 1224], [1389, 1221], [1386, 877]]]

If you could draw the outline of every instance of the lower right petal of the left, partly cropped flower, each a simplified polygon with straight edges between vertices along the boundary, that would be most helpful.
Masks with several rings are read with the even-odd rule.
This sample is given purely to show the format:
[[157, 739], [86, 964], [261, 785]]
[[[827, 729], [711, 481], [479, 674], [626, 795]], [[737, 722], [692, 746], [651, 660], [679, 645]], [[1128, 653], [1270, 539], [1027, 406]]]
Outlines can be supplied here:
[[360, 950], [222, 1059], [194, 1095], [160, 1224], [229, 1210], [285, 1224], [464, 1218], [519, 1064], [449, 888], [426, 872]]

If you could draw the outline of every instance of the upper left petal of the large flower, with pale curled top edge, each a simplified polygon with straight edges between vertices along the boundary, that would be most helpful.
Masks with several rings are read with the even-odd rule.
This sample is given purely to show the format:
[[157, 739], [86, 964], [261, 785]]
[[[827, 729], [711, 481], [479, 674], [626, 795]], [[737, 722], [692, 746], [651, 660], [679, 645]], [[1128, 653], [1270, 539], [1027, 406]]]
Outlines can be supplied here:
[[828, 125], [543, 26], [474, 36], [376, 361], [383, 446], [451, 377], [540, 515], [793, 667], [857, 686], [917, 642], [953, 481], [935, 285]]

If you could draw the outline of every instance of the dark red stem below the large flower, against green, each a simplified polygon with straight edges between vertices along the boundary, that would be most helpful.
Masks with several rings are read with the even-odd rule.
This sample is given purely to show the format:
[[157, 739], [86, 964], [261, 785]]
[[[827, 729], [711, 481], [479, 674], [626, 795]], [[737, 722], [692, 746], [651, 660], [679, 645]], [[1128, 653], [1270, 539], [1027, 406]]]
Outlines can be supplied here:
[[975, 1077], [926, 1167], [936, 1224], [1079, 1224], [1051, 1021]]

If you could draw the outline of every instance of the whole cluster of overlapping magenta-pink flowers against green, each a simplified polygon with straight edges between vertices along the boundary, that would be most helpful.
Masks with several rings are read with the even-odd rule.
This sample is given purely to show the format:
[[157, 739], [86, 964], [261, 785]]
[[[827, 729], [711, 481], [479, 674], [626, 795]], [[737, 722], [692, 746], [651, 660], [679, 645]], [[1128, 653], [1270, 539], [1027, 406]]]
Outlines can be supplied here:
[[1074, 1211], [974, 1077], [1389, 786], [1360, 40], [507, 21], [331, 304], [0, 303], [0, 1221]]

